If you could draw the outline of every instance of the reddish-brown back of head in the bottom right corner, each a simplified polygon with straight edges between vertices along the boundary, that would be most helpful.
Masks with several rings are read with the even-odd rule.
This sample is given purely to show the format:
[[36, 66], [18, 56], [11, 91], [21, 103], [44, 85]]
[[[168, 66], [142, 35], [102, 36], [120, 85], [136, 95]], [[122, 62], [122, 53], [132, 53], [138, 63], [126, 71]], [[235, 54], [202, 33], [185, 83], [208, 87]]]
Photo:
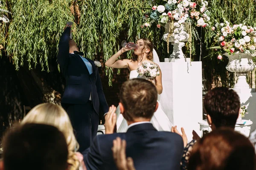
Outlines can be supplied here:
[[189, 157], [188, 170], [255, 170], [254, 147], [244, 135], [221, 127], [200, 139]]

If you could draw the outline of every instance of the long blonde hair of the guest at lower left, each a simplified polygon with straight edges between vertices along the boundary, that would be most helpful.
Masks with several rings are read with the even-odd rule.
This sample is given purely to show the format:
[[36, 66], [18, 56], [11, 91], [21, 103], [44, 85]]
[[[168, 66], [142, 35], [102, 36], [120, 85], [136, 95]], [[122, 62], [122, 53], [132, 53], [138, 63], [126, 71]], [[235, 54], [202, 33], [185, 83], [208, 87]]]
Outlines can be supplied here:
[[79, 168], [79, 160], [75, 154], [79, 144], [76, 141], [67, 112], [61, 106], [52, 103], [37, 105], [29, 111], [21, 122], [21, 124], [26, 123], [41, 123], [57, 127], [64, 134], [67, 141], [67, 163], [71, 165], [69, 170], [77, 170]]

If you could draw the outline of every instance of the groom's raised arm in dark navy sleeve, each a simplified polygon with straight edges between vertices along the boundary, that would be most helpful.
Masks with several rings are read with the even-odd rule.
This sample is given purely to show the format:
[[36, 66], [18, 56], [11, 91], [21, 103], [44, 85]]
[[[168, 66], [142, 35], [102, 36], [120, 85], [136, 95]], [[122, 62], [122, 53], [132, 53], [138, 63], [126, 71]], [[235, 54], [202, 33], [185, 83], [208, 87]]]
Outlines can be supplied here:
[[61, 34], [61, 38], [58, 44], [58, 56], [57, 61], [60, 65], [61, 72], [65, 75], [67, 71], [68, 65], [68, 57], [69, 57], [69, 44], [68, 41], [70, 39], [70, 27], [65, 27], [64, 32]]

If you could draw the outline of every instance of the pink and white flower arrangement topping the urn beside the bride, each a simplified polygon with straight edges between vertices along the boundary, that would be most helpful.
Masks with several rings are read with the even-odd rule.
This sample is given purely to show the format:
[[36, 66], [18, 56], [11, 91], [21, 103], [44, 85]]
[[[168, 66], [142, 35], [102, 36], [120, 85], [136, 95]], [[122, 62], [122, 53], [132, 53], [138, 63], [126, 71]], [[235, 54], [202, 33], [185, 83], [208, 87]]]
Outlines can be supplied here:
[[174, 20], [177, 24], [189, 21], [198, 27], [205, 27], [210, 19], [206, 0], [152, 0], [152, 4], [149, 14], [144, 16], [144, 26], [157, 23], [160, 28], [161, 25]]

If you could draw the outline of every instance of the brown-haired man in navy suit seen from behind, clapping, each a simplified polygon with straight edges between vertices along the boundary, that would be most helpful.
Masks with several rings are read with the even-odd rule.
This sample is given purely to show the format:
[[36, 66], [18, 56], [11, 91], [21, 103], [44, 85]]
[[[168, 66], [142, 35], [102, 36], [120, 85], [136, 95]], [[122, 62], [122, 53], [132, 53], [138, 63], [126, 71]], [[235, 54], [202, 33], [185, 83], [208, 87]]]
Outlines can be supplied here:
[[134, 160], [137, 170], [178, 170], [183, 140], [172, 132], [157, 131], [150, 120], [158, 107], [157, 90], [145, 79], [126, 81], [120, 90], [120, 112], [127, 120], [126, 133], [113, 133], [115, 108], [105, 117], [106, 135], [93, 140], [85, 158], [87, 170], [116, 170], [111, 147], [116, 137], [126, 140], [126, 155]]

